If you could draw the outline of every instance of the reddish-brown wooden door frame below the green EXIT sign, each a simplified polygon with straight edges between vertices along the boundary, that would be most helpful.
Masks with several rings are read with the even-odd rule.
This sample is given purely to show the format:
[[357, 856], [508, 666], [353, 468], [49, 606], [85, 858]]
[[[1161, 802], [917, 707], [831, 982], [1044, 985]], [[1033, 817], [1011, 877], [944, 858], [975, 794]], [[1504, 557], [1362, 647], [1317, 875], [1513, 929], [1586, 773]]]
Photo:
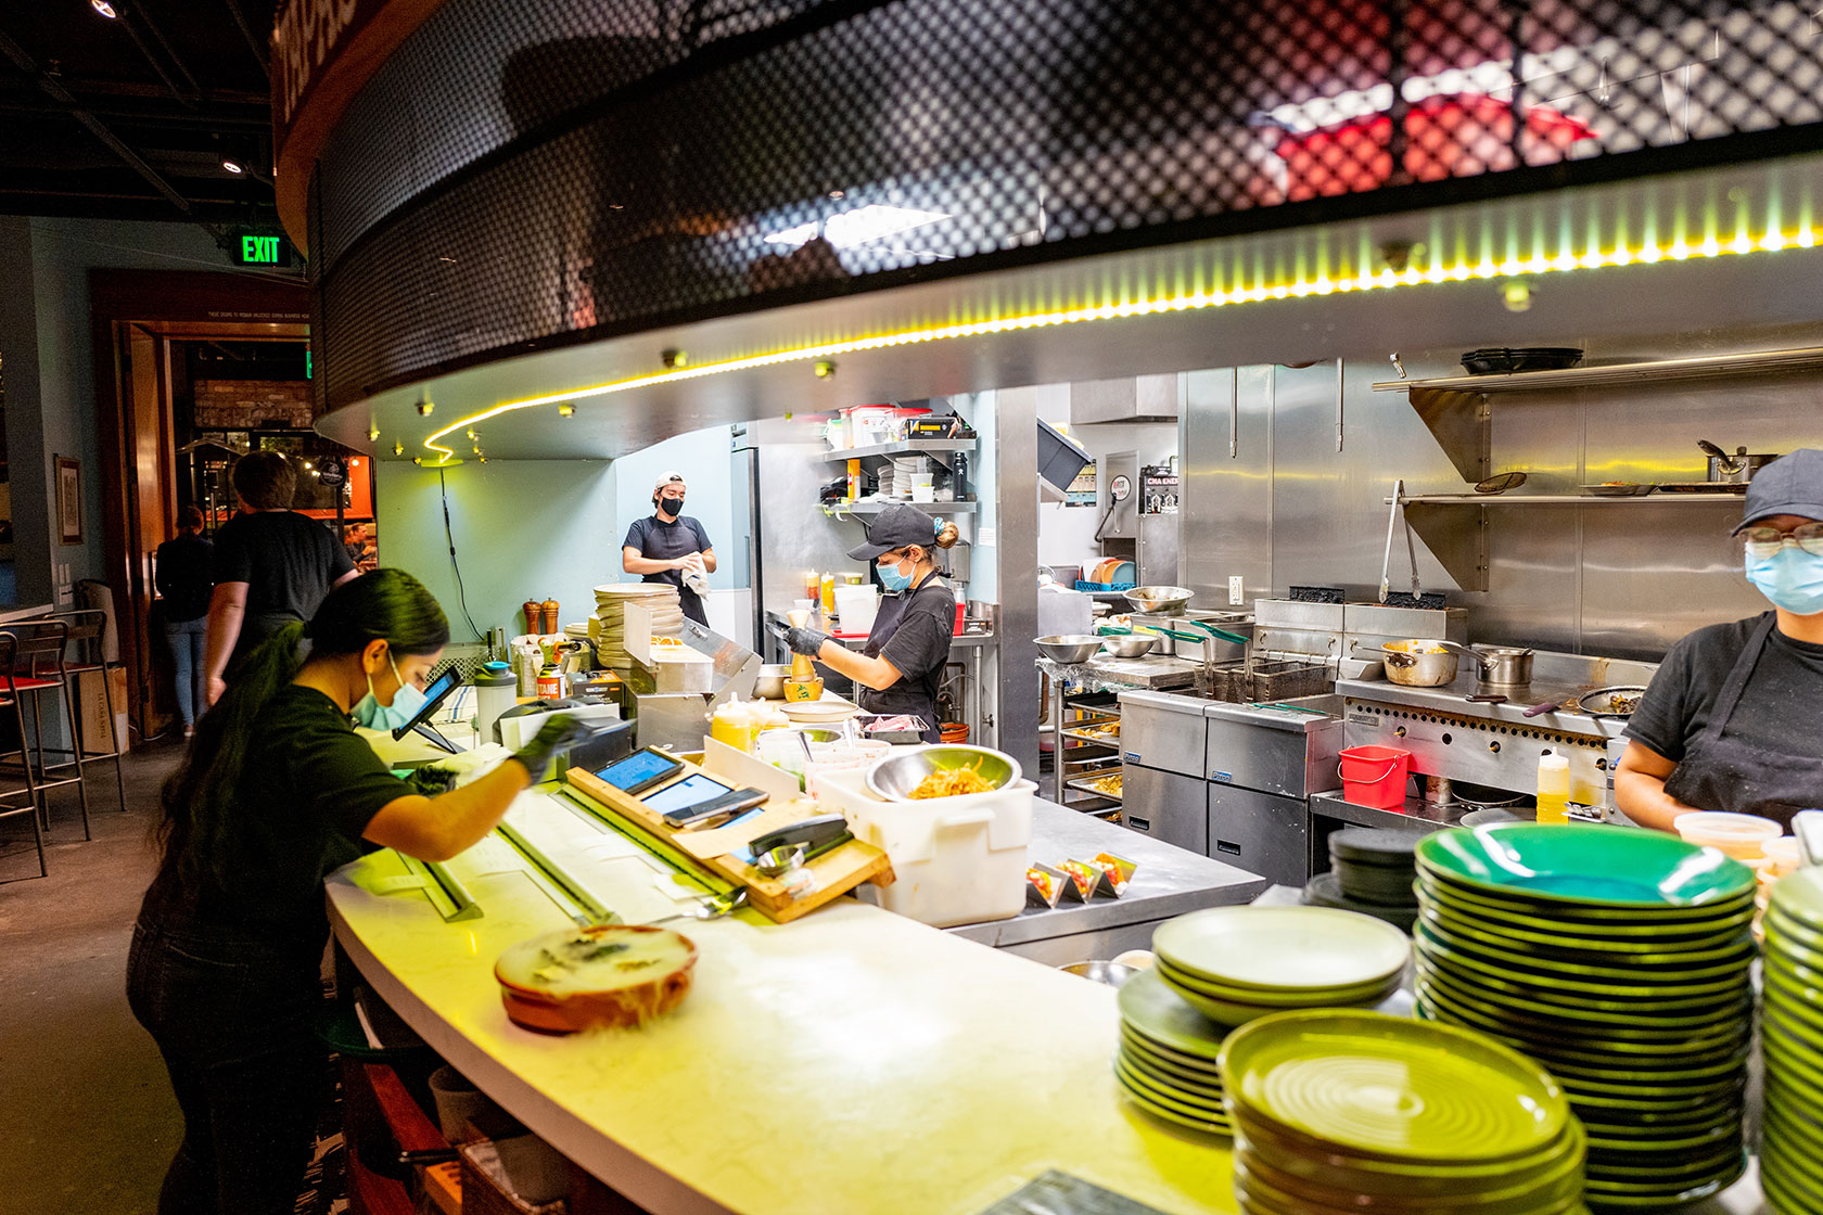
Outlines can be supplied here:
[[[310, 335], [304, 284], [201, 270], [91, 270], [95, 432], [100, 444], [102, 568], [115, 597], [128, 716], [149, 732], [153, 652], [151, 554], [177, 534], [177, 444], [171, 432], [170, 346], [186, 339], [299, 341]], [[157, 341], [157, 410], [133, 403], [133, 333]], [[144, 459], [155, 452], [157, 466]], [[146, 474], [151, 474], [151, 485]]]

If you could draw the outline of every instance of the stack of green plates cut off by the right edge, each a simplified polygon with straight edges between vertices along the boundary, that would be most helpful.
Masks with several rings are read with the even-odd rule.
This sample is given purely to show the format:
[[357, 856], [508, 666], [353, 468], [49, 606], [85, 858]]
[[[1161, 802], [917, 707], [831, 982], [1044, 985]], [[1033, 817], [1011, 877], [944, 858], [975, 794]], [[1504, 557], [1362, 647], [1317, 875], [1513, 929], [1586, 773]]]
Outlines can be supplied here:
[[1759, 1184], [1781, 1211], [1823, 1210], [1823, 871], [1779, 878], [1766, 909]]

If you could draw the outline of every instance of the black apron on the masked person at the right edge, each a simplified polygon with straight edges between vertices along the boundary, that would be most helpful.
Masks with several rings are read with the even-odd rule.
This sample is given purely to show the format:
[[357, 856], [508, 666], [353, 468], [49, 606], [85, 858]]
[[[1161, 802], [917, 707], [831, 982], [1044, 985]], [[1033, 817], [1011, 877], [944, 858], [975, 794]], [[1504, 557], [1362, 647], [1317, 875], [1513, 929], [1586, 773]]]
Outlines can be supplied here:
[[1664, 781], [1664, 792], [1699, 811], [1759, 814], [1790, 827], [1797, 811], [1823, 809], [1823, 756], [1763, 750], [1723, 736], [1776, 623], [1777, 616], [1768, 612], [1746, 639], [1715, 696], [1708, 725]]

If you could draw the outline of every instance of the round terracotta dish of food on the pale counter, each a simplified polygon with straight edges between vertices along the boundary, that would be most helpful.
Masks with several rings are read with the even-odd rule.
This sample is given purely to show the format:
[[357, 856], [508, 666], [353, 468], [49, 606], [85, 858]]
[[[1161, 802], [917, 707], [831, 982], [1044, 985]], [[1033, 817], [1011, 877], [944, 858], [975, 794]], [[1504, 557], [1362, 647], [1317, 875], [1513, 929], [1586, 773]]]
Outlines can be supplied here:
[[645, 924], [594, 924], [509, 947], [494, 964], [514, 1024], [543, 1033], [644, 1026], [689, 995], [696, 945]]

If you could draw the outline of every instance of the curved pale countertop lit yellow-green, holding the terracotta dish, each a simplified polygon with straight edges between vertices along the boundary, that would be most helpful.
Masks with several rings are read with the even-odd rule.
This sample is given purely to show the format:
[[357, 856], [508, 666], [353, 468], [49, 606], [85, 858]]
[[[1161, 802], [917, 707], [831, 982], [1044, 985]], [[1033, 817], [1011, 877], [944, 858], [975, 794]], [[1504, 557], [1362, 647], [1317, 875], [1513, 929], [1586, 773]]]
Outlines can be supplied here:
[[[642, 851], [552, 789], [521, 794], [509, 822], [625, 920], [667, 914]], [[1165, 867], [1145, 851], [1141, 874]], [[1209, 902], [1263, 885], [1203, 863], [1232, 876]], [[788, 925], [684, 924], [702, 956], [675, 1013], [547, 1036], [507, 1020], [492, 965], [567, 909], [509, 858], [470, 858], [485, 914], [445, 924], [403, 874], [381, 851], [328, 882], [366, 982], [509, 1113], [658, 1215], [966, 1215], [1050, 1168], [1163, 1211], [1236, 1210], [1227, 1140], [1117, 1095], [1112, 987], [839, 900]]]

